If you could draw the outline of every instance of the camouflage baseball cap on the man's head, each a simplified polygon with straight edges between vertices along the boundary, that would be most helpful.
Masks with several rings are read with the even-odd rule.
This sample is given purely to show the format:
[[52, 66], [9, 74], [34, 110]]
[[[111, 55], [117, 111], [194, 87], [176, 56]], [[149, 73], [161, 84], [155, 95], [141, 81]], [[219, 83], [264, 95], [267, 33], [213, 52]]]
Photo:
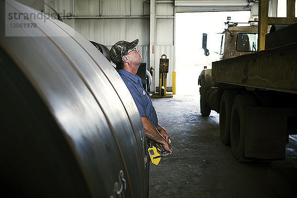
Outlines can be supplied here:
[[129, 49], [133, 49], [138, 45], [138, 39], [132, 41], [118, 41], [109, 50], [109, 56], [113, 63], [118, 64]]

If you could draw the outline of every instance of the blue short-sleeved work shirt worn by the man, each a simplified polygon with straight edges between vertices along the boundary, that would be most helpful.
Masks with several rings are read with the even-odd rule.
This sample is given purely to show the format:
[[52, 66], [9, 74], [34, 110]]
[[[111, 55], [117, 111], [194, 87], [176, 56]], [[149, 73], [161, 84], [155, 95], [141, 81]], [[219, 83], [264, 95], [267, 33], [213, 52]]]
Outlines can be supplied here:
[[158, 118], [148, 92], [144, 90], [141, 78], [120, 69], [119, 74], [130, 91], [141, 117], [148, 117], [153, 126], [158, 127]]

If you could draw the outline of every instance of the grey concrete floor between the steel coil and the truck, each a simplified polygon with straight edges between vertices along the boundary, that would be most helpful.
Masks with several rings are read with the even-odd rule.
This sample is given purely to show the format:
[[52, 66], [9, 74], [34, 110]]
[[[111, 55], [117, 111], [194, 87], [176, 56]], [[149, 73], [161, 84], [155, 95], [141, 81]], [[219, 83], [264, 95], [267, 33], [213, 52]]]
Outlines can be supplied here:
[[173, 153], [150, 164], [149, 198], [296, 198], [297, 136], [286, 160], [240, 163], [221, 143], [219, 114], [201, 117], [199, 95], [153, 99]]

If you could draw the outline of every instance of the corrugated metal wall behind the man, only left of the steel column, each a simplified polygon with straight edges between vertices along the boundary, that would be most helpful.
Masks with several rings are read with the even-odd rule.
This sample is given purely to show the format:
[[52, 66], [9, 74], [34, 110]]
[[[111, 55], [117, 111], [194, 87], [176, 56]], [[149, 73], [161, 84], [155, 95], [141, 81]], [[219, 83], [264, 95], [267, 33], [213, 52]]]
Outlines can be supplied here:
[[[73, 27], [107, 48], [119, 40], [139, 38], [138, 49], [149, 65], [149, 1], [147, 0], [46, 0]], [[45, 12], [52, 13], [49, 7]]]

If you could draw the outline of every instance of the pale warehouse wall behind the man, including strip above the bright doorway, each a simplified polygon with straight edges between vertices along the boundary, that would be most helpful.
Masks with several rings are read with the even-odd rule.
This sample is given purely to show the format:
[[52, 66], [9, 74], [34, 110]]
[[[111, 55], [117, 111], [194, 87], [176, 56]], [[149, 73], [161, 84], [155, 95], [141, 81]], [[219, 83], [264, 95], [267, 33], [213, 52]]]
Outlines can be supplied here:
[[[50, 8], [39, 0], [18, 1], [52, 14]], [[149, 67], [154, 69], [151, 91], [158, 90], [159, 59], [162, 54], [166, 54], [169, 58], [167, 91], [172, 90], [172, 73], [175, 71], [176, 59], [176, 13], [222, 10], [251, 10], [253, 13], [252, 8], [257, 5], [256, 1], [250, 0], [45, 0], [45, 2], [60, 13], [66, 24], [87, 39], [103, 44], [107, 48], [111, 48], [119, 40], [133, 41], [139, 38], [138, 48], [142, 51], [144, 62], [147, 63], [148, 69]], [[152, 3], [154, 6], [151, 6]], [[254, 9], [254, 15], [257, 14], [256, 10]], [[151, 35], [154, 35], [153, 41], [150, 40]], [[151, 59], [151, 56], [154, 58]], [[153, 61], [150, 63], [150, 60]]]

